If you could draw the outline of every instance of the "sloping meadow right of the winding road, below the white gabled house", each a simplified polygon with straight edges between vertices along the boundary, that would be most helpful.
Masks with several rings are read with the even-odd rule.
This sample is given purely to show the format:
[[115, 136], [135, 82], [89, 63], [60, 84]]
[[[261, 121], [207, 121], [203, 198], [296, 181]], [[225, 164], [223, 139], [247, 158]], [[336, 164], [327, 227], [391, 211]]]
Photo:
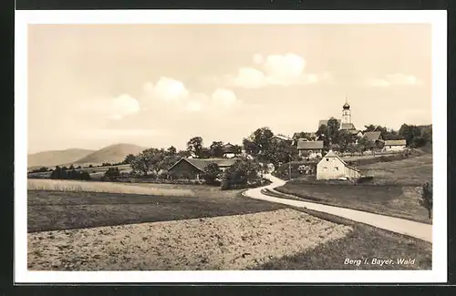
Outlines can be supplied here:
[[420, 187], [432, 181], [432, 155], [426, 154], [358, 168], [373, 179], [357, 186], [328, 185], [295, 179], [277, 191], [326, 205], [432, 223], [427, 209], [420, 206]]

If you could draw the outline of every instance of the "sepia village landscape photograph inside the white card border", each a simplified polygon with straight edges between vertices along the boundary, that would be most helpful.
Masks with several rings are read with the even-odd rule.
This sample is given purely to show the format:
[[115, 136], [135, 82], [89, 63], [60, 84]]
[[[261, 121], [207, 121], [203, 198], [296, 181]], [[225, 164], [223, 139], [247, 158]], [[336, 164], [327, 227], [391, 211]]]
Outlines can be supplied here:
[[432, 34], [26, 25], [26, 270], [432, 270]]

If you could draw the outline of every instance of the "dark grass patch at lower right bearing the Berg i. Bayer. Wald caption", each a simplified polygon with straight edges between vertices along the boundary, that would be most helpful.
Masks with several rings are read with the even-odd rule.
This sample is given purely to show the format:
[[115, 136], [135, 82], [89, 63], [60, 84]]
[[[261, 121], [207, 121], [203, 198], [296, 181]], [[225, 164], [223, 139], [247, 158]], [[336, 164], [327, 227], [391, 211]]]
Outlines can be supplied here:
[[[315, 249], [276, 258], [256, 269], [261, 270], [430, 270], [432, 244], [348, 219], [299, 209], [320, 219], [351, 226], [353, 231], [339, 240], [331, 240]], [[346, 264], [354, 260], [355, 264]], [[411, 259], [413, 264], [399, 264]], [[355, 261], [355, 260], [358, 260]], [[373, 260], [392, 260], [393, 264], [373, 264]], [[365, 264], [365, 262], [368, 264]], [[410, 261], [411, 263], [411, 261]]]

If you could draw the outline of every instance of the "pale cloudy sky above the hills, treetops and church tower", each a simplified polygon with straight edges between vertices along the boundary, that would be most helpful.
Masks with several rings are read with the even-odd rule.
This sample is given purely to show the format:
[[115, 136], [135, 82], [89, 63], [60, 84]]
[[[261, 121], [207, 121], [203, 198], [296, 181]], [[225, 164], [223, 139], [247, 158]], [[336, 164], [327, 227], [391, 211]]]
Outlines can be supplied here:
[[431, 124], [430, 25], [30, 25], [28, 152]]

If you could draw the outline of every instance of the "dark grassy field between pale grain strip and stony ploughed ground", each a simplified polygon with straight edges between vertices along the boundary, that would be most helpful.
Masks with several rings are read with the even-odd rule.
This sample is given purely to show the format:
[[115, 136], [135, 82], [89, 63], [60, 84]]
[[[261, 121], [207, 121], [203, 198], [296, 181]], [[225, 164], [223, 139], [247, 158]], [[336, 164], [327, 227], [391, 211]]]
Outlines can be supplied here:
[[[134, 185], [125, 187], [137, 188]], [[248, 199], [241, 190], [221, 191], [205, 186], [162, 186], [142, 189], [189, 190], [189, 196], [150, 196], [125, 193], [29, 190], [28, 231], [88, 227], [175, 219], [246, 214], [285, 206]], [[197, 195], [196, 195], [196, 194]]]

